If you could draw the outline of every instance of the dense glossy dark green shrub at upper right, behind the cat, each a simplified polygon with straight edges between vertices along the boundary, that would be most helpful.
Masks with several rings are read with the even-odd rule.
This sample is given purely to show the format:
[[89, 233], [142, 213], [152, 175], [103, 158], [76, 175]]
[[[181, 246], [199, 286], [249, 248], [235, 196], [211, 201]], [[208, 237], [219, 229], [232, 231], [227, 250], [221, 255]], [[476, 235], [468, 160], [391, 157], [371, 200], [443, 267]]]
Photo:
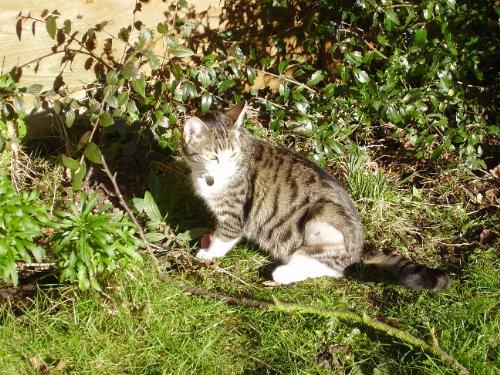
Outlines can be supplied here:
[[[318, 156], [342, 152], [353, 139], [389, 136], [417, 159], [445, 156], [472, 169], [486, 167], [484, 157], [491, 157], [499, 136], [498, 14], [491, 2], [282, 6], [307, 25], [296, 34], [311, 57], [296, 66], [294, 78], [319, 92], [306, 95], [282, 82], [276, 101], [286, 109], [274, 110], [274, 117], [280, 126], [291, 116], [311, 127]], [[296, 63], [287, 53], [278, 61], [278, 72]]]

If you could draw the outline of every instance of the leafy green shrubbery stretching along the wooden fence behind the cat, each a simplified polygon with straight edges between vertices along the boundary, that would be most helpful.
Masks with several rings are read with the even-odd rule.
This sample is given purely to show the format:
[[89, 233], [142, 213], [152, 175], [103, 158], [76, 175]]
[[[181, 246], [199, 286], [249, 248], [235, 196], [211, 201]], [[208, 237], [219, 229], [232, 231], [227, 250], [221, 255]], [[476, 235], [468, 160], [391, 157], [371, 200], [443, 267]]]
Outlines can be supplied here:
[[[109, 50], [113, 43], [125, 44], [119, 61], [95, 53], [106, 22], [69, 38], [71, 22], [61, 24], [60, 15], [44, 12], [54, 53], [63, 52], [62, 62], [71, 62], [78, 45], [90, 55], [86, 66], [94, 68], [97, 81], [82, 101], [64, 93], [62, 100], [54, 99], [51, 90], [41, 101], [53, 102], [68, 127], [78, 120], [128, 139], [136, 133], [132, 129], [147, 129], [177, 153], [179, 119], [187, 112], [198, 106], [205, 113], [245, 96], [261, 107], [271, 131], [305, 131], [312, 156], [322, 164], [353, 141], [375, 138], [411, 158], [486, 168], [499, 136], [492, 100], [497, 14], [490, 3], [261, 0], [245, 15], [252, 22], [241, 28], [239, 13], [247, 7], [232, 1], [227, 12], [236, 21], [228, 17], [225, 33], [207, 33], [206, 45], [200, 44], [205, 35], [189, 34], [196, 20], [187, 10], [181, 14], [186, 3], [177, 5], [166, 13], [175, 27], [167, 20], [156, 27], [167, 46], [163, 56], [149, 49], [157, 35], [144, 24], [125, 26], [117, 36], [104, 34]], [[33, 20], [20, 15], [18, 23]], [[259, 24], [270, 25], [270, 35], [256, 28]], [[289, 30], [278, 32], [285, 27]], [[290, 36], [293, 49], [287, 45]], [[186, 44], [203, 48], [202, 55]], [[257, 75], [277, 77], [277, 91], [253, 86]], [[85, 150], [95, 133], [89, 129], [78, 147]], [[120, 143], [105, 147], [111, 156], [129, 150]]]

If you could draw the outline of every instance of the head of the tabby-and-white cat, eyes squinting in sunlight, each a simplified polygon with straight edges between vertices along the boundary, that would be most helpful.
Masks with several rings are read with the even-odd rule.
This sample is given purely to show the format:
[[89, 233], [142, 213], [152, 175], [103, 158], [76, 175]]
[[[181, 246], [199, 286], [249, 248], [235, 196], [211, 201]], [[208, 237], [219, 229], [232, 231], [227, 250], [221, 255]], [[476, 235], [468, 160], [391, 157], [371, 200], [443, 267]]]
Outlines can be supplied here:
[[238, 164], [245, 110], [246, 103], [241, 102], [226, 112], [189, 118], [184, 124], [182, 151], [190, 164], [204, 168]]

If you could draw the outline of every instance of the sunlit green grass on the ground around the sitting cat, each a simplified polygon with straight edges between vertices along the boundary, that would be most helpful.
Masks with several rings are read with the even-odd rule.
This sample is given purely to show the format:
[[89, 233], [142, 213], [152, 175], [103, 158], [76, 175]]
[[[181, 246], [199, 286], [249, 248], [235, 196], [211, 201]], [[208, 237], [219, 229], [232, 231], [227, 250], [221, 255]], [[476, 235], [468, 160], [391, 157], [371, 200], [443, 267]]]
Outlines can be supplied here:
[[[455, 280], [451, 288], [414, 292], [357, 279], [269, 288], [262, 281], [271, 261], [246, 244], [218, 267], [194, 262], [171, 268], [170, 276], [219, 293], [366, 312], [428, 342], [433, 328], [441, 347], [472, 374], [498, 373], [498, 240], [477, 243], [482, 229], [498, 225], [498, 216], [475, 200], [477, 177], [442, 171], [436, 181], [417, 184], [367, 155], [342, 166], [368, 248], [447, 264]], [[200, 202], [190, 198], [179, 171], [167, 168], [151, 182], [172, 187], [161, 194], [157, 189], [162, 212], [180, 232], [206, 226], [209, 218], [199, 214]], [[189, 296], [158, 281], [148, 267], [120, 270], [103, 294], [44, 286], [24, 306], [20, 313], [14, 303], [0, 305], [1, 374], [454, 373], [362, 325]]]

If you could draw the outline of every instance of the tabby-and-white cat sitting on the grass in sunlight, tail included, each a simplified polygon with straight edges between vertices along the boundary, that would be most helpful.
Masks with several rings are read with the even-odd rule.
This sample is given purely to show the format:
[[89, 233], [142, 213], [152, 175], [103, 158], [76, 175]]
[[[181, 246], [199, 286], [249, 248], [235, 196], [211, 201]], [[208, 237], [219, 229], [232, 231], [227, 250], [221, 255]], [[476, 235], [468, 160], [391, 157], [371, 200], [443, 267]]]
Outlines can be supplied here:
[[[194, 190], [217, 219], [197, 257], [226, 255], [242, 238], [281, 262], [278, 284], [339, 278], [361, 261], [363, 230], [339, 181], [310, 160], [259, 140], [244, 127], [246, 103], [187, 119], [182, 151]], [[412, 289], [448, 286], [444, 271], [379, 254], [365, 263], [386, 269]]]

